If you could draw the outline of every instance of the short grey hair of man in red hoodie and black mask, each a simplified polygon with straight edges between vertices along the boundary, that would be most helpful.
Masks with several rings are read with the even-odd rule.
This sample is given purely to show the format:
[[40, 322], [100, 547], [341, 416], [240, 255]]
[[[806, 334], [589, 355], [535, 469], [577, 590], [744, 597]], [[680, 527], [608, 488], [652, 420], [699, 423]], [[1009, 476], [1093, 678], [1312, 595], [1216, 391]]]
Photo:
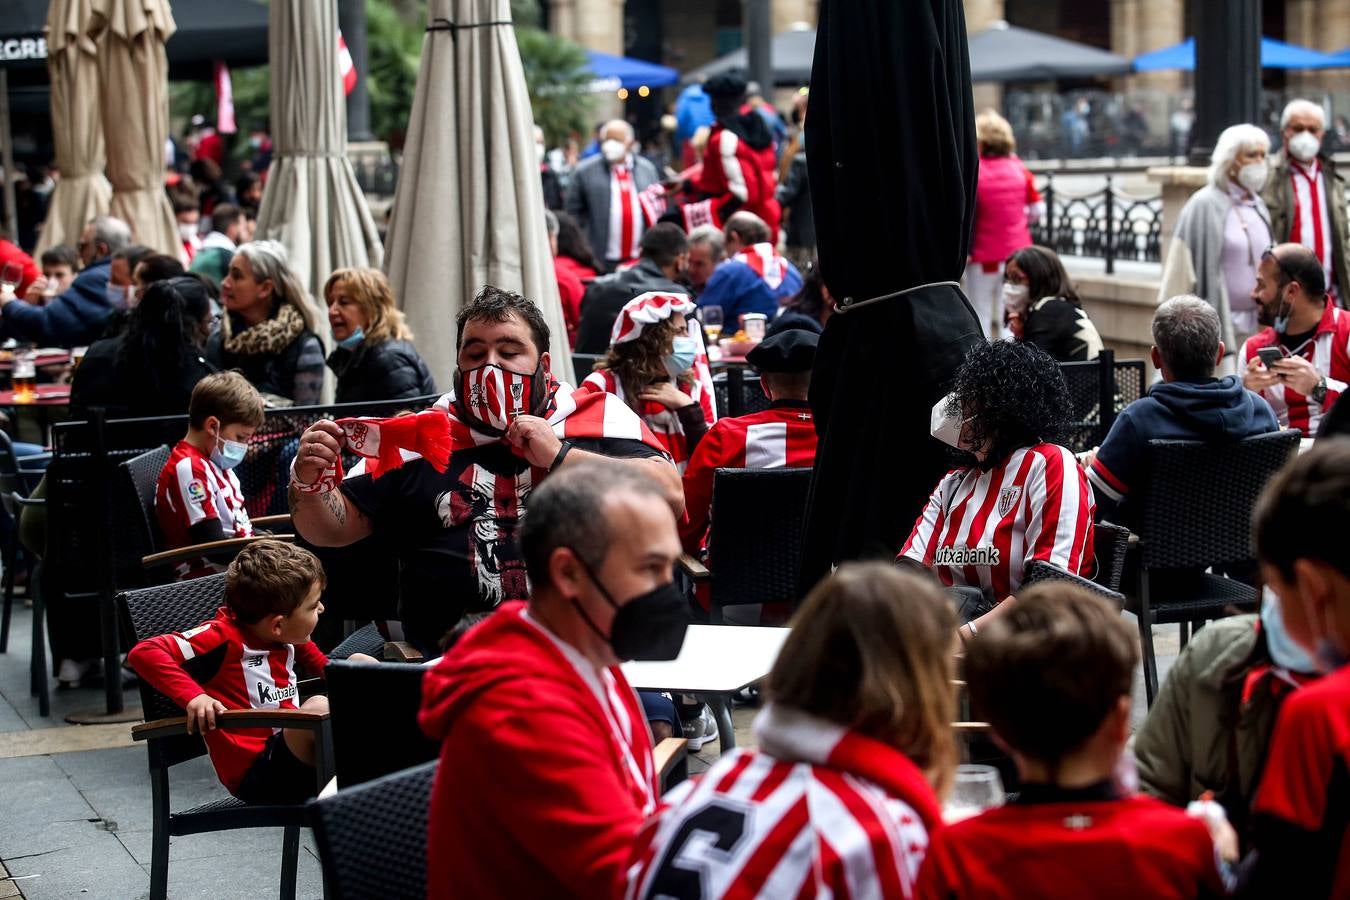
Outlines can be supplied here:
[[529, 509], [520, 526], [520, 555], [535, 588], [549, 583], [548, 560], [560, 546], [571, 548], [593, 572], [605, 564], [614, 533], [603, 507], [614, 494], [655, 497], [666, 502], [652, 478], [608, 461], [562, 468], [529, 495]]

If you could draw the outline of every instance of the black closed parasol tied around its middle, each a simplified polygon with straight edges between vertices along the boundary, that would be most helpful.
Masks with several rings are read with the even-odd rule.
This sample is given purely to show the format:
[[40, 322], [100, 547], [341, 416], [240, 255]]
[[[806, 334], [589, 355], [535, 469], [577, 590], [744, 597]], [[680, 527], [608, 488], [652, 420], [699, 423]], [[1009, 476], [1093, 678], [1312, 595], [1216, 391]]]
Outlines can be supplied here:
[[806, 146], [840, 309], [811, 382], [809, 588], [834, 563], [900, 549], [946, 468], [929, 413], [983, 340], [956, 285], [979, 170], [961, 0], [824, 0]]

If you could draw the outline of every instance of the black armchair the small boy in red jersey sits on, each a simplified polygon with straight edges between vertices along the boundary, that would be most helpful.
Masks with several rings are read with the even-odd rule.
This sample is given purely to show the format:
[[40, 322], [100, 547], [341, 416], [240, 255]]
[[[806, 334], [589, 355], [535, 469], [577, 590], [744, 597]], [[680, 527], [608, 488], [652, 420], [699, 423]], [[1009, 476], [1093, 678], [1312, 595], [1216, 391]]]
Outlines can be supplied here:
[[[209, 619], [224, 599], [224, 575], [176, 582], [117, 595], [126, 634], [134, 641], [181, 631]], [[169, 770], [207, 752], [197, 734], [188, 734], [178, 708], [169, 698], [140, 681], [140, 703], [146, 722], [132, 729], [136, 741], [146, 741], [150, 758], [150, 793], [154, 810], [150, 853], [150, 896], [169, 891], [169, 841], [186, 834], [235, 828], [284, 828], [279, 896], [296, 896], [296, 862], [300, 855], [300, 828], [309, 824], [304, 804], [248, 806], [235, 797], [212, 800], [190, 810], [170, 808]], [[317, 788], [332, 777], [332, 734], [327, 712], [306, 710], [230, 710], [216, 716], [221, 729], [305, 729], [315, 731]]]

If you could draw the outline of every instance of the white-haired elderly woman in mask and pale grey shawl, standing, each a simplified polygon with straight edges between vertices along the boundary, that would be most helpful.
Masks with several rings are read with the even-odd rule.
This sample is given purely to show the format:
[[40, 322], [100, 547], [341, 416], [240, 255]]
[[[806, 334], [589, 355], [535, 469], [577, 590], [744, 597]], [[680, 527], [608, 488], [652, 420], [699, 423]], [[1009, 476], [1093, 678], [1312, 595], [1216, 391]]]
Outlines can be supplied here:
[[1272, 243], [1270, 210], [1261, 200], [1269, 151], [1270, 138], [1256, 125], [1233, 125], [1219, 135], [1210, 184], [1181, 208], [1162, 267], [1158, 302], [1177, 294], [1203, 297], [1219, 313], [1230, 354], [1261, 329], [1251, 290], [1261, 254]]

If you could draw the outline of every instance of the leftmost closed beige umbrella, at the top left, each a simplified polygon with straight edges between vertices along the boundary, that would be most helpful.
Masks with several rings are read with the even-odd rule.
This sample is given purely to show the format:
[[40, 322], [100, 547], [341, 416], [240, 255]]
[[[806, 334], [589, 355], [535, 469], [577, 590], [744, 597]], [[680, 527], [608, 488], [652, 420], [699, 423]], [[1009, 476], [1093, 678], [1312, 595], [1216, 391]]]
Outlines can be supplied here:
[[80, 242], [85, 223], [108, 212], [112, 185], [103, 175], [97, 46], [84, 32], [92, 0], [53, 0], [47, 9], [51, 136], [61, 178], [51, 192], [38, 252]]

